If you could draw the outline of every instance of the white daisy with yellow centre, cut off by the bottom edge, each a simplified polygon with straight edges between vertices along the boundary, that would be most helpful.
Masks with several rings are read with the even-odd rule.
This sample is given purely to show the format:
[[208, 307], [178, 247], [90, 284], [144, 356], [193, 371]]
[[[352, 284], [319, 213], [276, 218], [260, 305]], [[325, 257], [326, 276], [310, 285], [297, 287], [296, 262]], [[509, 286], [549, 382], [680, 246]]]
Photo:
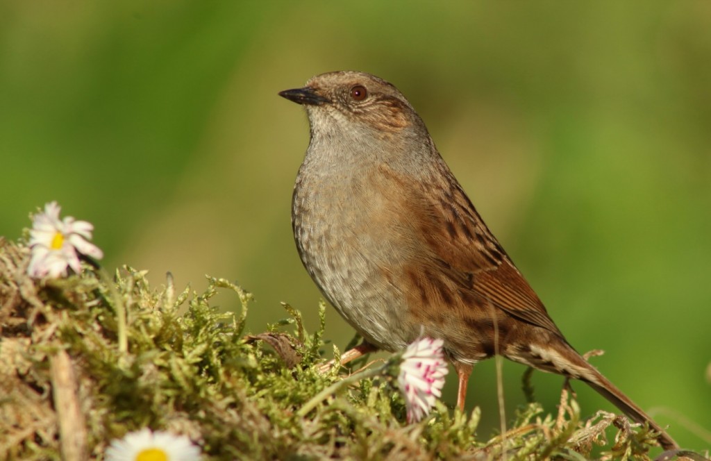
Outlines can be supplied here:
[[184, 435], [151, 432], [144, 428], [112, 440], [106, 450], [106, 461], [194, 461], [200, 459], [200, 448]]

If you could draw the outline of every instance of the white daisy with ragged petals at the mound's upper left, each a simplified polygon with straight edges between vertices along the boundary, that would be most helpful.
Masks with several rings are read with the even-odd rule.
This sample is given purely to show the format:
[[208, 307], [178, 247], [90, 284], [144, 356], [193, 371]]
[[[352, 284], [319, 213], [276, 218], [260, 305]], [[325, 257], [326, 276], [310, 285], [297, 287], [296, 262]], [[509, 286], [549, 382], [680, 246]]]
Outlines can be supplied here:
[[104, 253], [92, 243], [94, 226], [86, 221], [75, 221], [71, 216], [59, 218], [61, 207], [53, 201], [45, 205], [43, 213], [32, 219], [30, 248], [32, 257], [27, 272], [31, 277], [57, 278], [67, 275], [67, 267], [81, 272], [79, 253], [101, 259]]

